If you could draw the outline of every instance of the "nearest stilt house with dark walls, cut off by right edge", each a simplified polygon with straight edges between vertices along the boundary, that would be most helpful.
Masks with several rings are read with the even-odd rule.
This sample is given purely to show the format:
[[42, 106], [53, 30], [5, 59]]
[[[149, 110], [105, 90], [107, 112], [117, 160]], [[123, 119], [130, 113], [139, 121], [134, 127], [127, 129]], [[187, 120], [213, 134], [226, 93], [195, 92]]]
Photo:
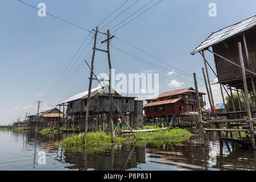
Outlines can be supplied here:
[[[212, 50], [209, 49], [210, 47], [212, 47]], [[210, 67], [205, 57], [205, 51], [213, 53], [216, 72]], [[252, 147], [255, 148], [255, 128], [253, 126], [255, 126], [256, 123], [255, 119], [251, 117], [251, 113], [255, 113], [256, 97], [256, 16], [212, 33], [192, 52], [192, 55], [197, 52], [203, 57], [205, 72], [207, 73], [205, 85], [208, 90], [209, 102], [213, 109], [213, 114], [215, 115], [214, 120], [208, 121], [207, 123], [213, 123], [216, 129], [204, 129], [204, 131], [217, 131], [218, 137], [221, 139], [240, 143], [251, 143]], [[227, 113], [225, 107], [224, 113], [218, 113], [214, 109], [214, 98], [212, 96], [208, 75], [209, 68], [212, 69], [213, 73], [218, 78], [224, 106], [224, 91], [228, 94], [230, 100], [232, 100], [233, 111], [230, 113]], [[226, 88], [229, 89], [229, 92]], [[236, 110], [234, 106], [234, 91], [238, 94], [240, 110]], [[250, 98], [254, 98], [251, 99], [253, 108], [250, 108], [249, 95], [251, 95]], [[240, 96], [242, 96], [242, 98], [240, 98]], [[242, 104], [245, 105], [246, 110], [242, 110]], [[236, 119], [216, 119], [218, 115], [228, 118], [230, 115], [233, 115]], [[221, 129], [224, 125], [226, 129]], [[226, 132], [225, 137], [221, 135], [221, 131]], [[240, 138], [233, 138], [233, 131], [237, 131], [240, 134]], [[246, 133], [246, 138], [241, 138], [241, 132]]]

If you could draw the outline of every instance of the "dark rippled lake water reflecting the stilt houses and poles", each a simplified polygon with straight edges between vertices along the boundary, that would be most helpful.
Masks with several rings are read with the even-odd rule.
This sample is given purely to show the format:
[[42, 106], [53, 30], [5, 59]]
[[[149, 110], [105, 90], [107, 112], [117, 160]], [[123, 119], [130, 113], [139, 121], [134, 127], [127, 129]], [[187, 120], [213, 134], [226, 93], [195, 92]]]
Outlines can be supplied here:
[[[255, 170], [256, 154], [234, 143], [220, 145], [214, 134], [207, 146], [195, 135], [181, 144], [168, 142], [119, 144], [73, 152], [56, 146], [67, 134], [41, 135], [0, 131], [0, 170]], [[46, 164], [40, 164], [40, 151]]]

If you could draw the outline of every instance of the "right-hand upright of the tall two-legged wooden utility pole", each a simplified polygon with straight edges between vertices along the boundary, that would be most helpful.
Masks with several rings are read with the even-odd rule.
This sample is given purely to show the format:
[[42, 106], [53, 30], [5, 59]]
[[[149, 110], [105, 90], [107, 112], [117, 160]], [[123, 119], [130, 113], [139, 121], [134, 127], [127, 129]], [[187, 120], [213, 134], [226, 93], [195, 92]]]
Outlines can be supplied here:
[[[113, 100], [113, 93], [112, 93], [112, 65], [110, 61], [110, 48], [109, 48], [109, 39], [110, 33], [108, 30], [108, 40], [107, 40], [107, 48], [108, 48], [108, 60], [109, 60], [109, 94], [110, 98]], [[109, 113], [109, 122], [110, 122], [110, 133], [111, 133], [111, 141], [114, 142], [114, 134], [113, 134], [113, 106], [110, 104], [110, 113]]]

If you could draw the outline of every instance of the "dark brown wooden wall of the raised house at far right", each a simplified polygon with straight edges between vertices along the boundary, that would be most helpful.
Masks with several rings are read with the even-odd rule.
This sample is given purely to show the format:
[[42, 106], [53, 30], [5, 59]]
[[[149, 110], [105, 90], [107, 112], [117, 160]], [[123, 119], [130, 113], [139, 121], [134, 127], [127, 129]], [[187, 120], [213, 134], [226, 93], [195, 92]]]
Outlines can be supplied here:
[[[245, 32], [245, 38], [249, 52], [251, 68], [253, 72], [256, 72], [256, 29]], [[225, 47], [224, 43], [219, 43], [213, 46], [213, 52], [216, 52], [218, 55], [221, 55], [226, 59], [241, 65], [238, 51], [238, 42], [241, 42], [242, 44], [243, 62], [245, 64], [245, 68], [248, 69], [242, 34], [226, 40], [224, 43], [228, 45], [228, 48]], [[228, 61], [225, 61], [216, 55], [214, 55], [214, 61], [216, 65], [218, 81], [225, 81], [242, 76], [241, 68], [237, 67], [236, 65], [228, 63]], [[246, 74], [249, 75], [249, 73]]]

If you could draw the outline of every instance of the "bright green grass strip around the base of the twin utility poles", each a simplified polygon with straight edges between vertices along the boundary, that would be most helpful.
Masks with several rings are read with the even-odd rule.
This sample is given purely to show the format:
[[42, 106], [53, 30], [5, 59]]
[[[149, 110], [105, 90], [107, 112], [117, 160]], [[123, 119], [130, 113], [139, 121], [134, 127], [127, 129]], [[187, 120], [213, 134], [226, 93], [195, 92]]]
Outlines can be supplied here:
[[[191, 133], [183, 129], [155, 130], [151, 133], [136, 133], [139, 140], [168, 140], [169, 142], [182, 142], [192, 136]], [[133, 142], [133, 135], [129, 134], [126, 137], [114, 137], [114, 143], [111, 142], [111, 136], [108, 133], [97, 132], [88, 133], [86, 144], [84, 144], [84, 133], [75, 134], [72, 137], [65, 138], [60, 142], [60, 145], [67, 148], [81, 147], [106, 147], [113, 144], [121, 144], [125, 142]]]

